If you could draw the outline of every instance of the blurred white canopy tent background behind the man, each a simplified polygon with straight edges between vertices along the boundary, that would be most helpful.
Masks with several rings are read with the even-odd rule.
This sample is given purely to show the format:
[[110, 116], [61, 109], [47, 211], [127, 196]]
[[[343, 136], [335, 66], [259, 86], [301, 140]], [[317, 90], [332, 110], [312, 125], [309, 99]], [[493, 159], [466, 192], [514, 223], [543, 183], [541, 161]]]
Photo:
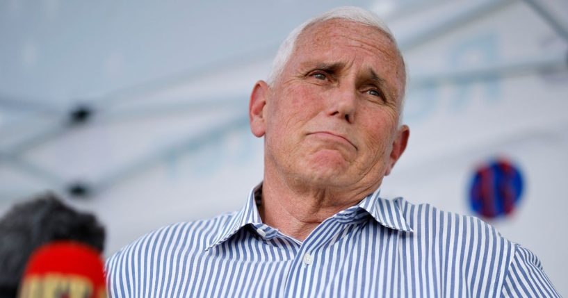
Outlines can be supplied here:
[[476, 215], [568, 267], [568, 1], [0, 1], [0, 215], [52, 190], [105, 254], [238, 210], [262, 179], [248, 99], [295, 26], [384, 17], [409, 71], [409, 147], [384, 197]]

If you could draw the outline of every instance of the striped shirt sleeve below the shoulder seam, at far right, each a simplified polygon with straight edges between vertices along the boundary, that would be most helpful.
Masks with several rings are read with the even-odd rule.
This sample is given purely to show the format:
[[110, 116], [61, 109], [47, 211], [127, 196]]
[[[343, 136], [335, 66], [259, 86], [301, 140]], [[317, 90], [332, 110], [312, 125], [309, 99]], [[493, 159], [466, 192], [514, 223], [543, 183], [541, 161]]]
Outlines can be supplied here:
[[501, 297], [560, 297], [532, 251], [515, 245]]

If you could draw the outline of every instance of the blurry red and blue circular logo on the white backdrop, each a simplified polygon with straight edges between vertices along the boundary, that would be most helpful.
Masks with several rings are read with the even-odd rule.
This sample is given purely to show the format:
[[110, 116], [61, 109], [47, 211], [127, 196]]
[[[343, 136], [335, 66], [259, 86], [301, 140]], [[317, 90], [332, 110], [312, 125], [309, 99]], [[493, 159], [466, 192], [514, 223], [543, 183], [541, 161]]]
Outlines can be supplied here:
[[469, 199], [478, 215], [494, 219], [510, 215], [523, 194], [523, 176], [510, 160], [498, 158], [476, 169]]

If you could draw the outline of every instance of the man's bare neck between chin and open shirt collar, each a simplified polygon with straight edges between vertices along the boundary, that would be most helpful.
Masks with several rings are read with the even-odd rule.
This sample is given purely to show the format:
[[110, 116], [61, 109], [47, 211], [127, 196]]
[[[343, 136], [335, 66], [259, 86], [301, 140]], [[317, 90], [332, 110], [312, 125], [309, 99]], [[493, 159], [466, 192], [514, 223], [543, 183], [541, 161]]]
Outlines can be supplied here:
[[259, 214], [263, 223], [304, 241], [321, 222], [359, 203], [372, 191], [300, 187], [270, 179], [265, 173]]

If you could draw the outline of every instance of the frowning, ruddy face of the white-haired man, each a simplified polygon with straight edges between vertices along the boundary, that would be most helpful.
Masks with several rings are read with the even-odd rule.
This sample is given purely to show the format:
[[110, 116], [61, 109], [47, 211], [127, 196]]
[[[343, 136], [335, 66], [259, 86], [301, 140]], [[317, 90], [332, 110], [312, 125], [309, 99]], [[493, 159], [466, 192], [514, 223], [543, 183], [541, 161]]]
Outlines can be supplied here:
[[404, 80], [393, 43], [377, 28], [337, 19], [307, 28], [279, 79], [252, 94], [265, 175], [316, 188], [378, 187], [408, 137], [398, 128]]

